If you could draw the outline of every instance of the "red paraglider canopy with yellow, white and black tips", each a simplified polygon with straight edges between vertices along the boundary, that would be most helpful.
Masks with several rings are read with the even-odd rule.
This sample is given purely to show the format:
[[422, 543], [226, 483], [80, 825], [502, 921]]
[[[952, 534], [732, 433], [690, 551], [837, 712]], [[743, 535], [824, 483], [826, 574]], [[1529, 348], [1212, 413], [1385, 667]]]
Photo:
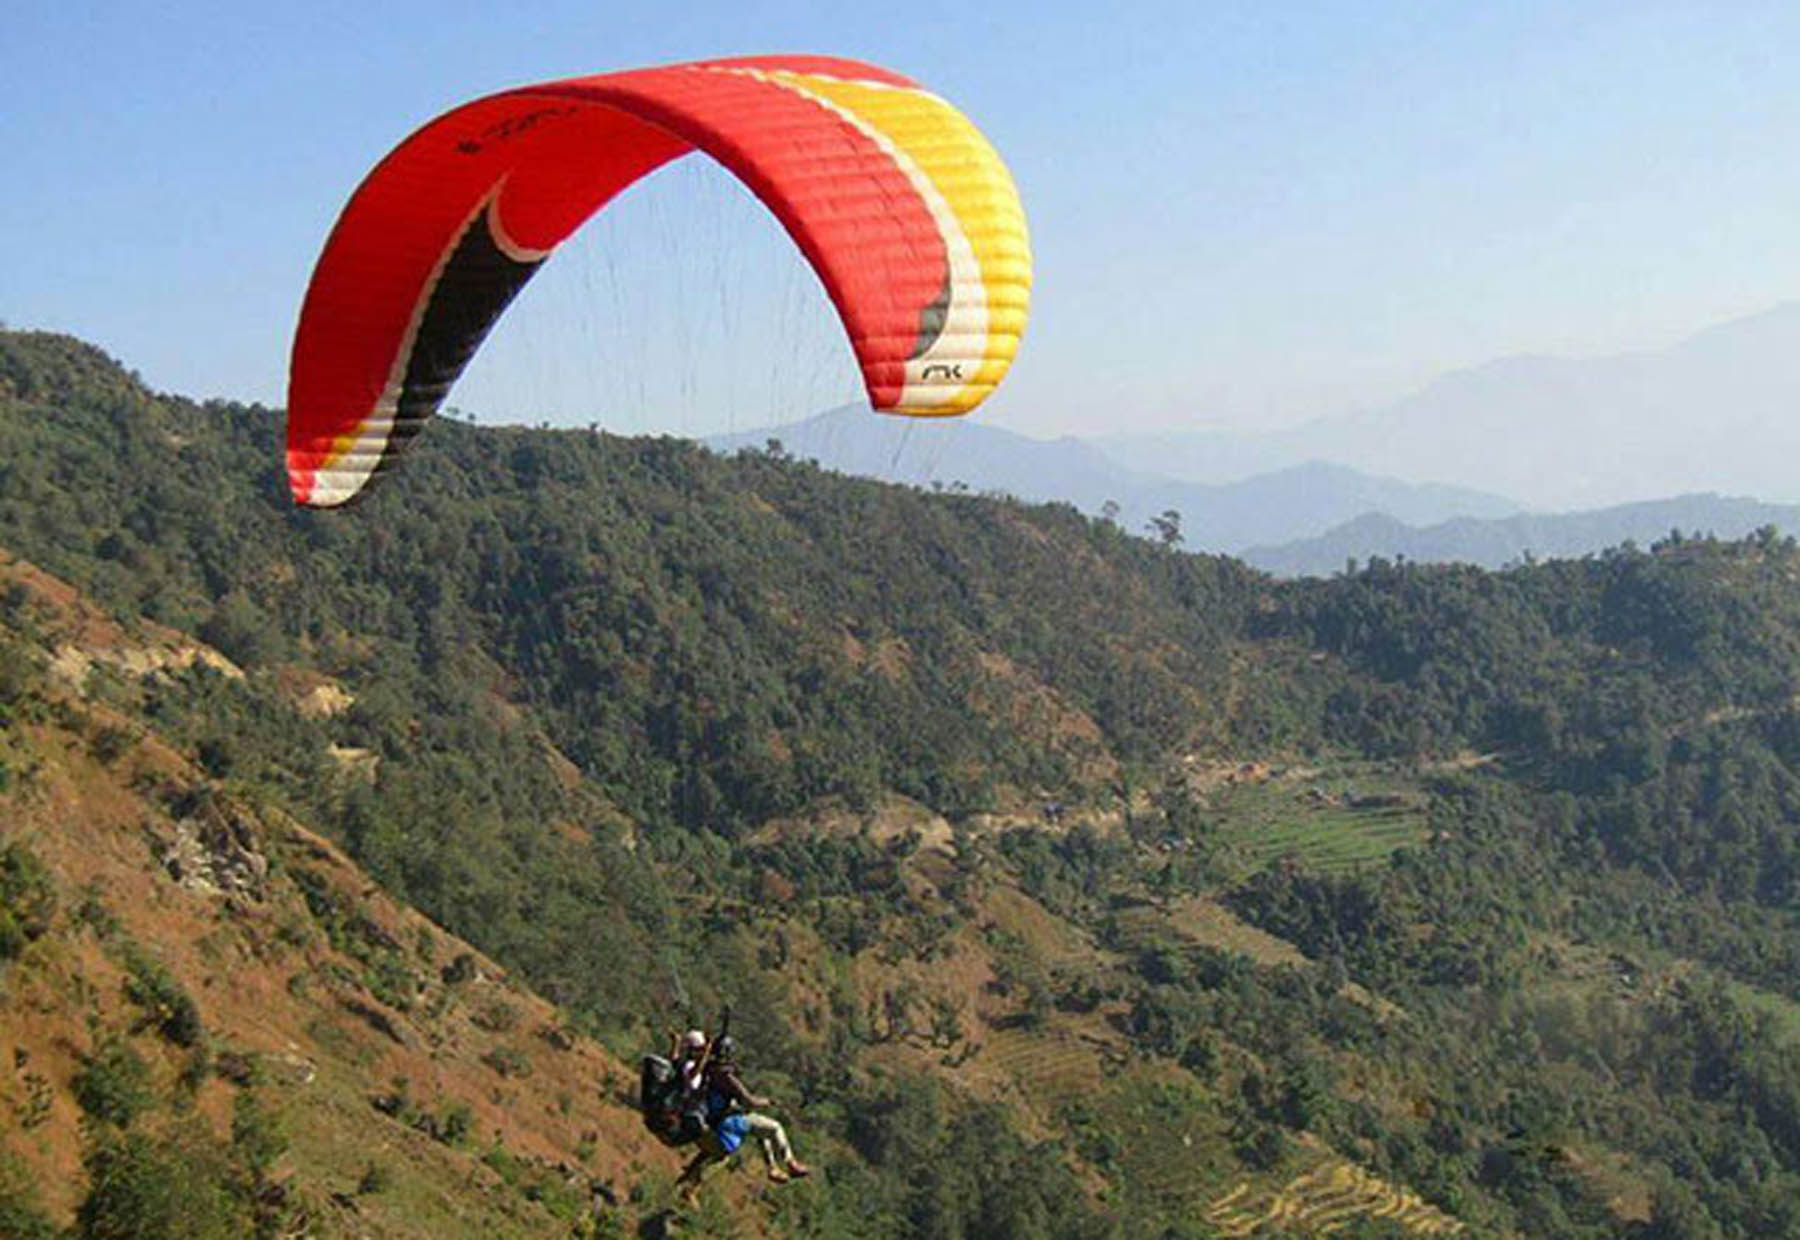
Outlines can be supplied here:
[[691, 151], [749, 185], [799, 245], [873, 409], [963, 414], [1001, 382], [1030, 302], [1024, 212], [994, 148], [949, 103], [823, 56], [572, 77], [432, 121], [344, 209], [293, 340], [295, 502], [356, 497], [551, 250]]

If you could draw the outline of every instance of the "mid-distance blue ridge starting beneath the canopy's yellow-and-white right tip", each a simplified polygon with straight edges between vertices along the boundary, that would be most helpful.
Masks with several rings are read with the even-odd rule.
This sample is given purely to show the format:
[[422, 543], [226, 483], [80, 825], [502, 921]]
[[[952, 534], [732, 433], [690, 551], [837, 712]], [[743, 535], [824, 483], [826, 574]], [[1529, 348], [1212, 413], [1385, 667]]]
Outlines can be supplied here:
[[1474, 488], [1397, 482], [1339, 464], [1296, 463], [1208, 486], [1130, 470], [1082, 439], [1030, 439], [968, 419], [882, 418], [833, 409], [806, 421], [707, 439], [716, 452], [763, 448], [779, 439], [801, 459], [842, 473], [911, 486], [967, 486], [1026, 500], [1073, 504], [1141, 533], [1166, 509], [1181, 513], [1184, 545], [1235, 553], [1319, 535], [1364, 513], [1427, 526], [1453, 517], [1510, 517], [1519, 506]]

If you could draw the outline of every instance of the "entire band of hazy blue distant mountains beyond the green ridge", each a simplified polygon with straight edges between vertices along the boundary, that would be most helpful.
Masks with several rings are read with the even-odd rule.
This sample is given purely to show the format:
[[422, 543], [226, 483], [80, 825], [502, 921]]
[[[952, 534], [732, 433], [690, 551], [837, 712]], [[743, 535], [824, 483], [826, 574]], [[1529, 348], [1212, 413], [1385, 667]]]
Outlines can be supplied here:
[[1042, 441], [844, 407], [707, 443], [733, 452], [779, 439], [842, 473], [1004, 491], [1091, 515], [1116, 506], [1132, 533], [1174, 509], [1190, 549], [1282, 574], [1336, 572], [1377, 554], [1498, 567], [1670, 529], [1730, 538], [1759, 526], [1800, 529], [1800, 504], [1778, 502], [1800, 500], [1795, 392], [1800, 302], [1669, 349], [1505, 358], [1379, 409], [1269, 434]]

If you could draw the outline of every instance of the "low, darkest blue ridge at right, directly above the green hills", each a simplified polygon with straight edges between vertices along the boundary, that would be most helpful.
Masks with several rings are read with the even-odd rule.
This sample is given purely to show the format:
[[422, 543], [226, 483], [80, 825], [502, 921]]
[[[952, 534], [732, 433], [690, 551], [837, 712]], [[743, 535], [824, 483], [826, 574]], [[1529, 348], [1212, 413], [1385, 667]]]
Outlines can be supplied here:
[[1800, 504], [1764, 504], [1726, 495], [1679, 495], [1645, 504], [1620, 504], [1589, 513], [1516, 515], [1499, 520], [1460, 517], [1415, 527], [1381, 513], [1366, 513], [1316, 538], [1276, 547], [1247, 547], [1240, 556], [1280, 576], [1327, 576], [1346, 560], [1406, 556], [1418, 562], [1463, 562], [1498, 569], [1526, 554], [1541, 560], [1584, 556], [1625, 540], [1651, 544], [1679, 529], [1683, 535], [1742, 538], [1775, 526], [1800, 531]]

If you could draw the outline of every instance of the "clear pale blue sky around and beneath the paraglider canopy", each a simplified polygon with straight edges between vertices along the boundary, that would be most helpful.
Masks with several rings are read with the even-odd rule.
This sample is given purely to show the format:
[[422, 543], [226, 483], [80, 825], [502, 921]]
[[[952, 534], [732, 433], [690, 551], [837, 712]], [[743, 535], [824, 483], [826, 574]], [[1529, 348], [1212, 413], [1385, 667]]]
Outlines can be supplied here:
[[[412, 128], [526, 81], [758, 50], [907, 72], [1008, 160], [1037, 292], [981, 416], [1028, 434], [1292, 421], [1800, 295], [1791, 0], [13, 0], [0, 319], [158, 389], [281, 403], [319, 247]], [[848, 346], [760, 214], [706, 173], [641, 198], [549, 265], [452, 403], [662, 400], [704, 430], [770, 329], [790, 360], [731, 419], [848, 394]], [[733, 322], [758, 344], [711, 335]]]

